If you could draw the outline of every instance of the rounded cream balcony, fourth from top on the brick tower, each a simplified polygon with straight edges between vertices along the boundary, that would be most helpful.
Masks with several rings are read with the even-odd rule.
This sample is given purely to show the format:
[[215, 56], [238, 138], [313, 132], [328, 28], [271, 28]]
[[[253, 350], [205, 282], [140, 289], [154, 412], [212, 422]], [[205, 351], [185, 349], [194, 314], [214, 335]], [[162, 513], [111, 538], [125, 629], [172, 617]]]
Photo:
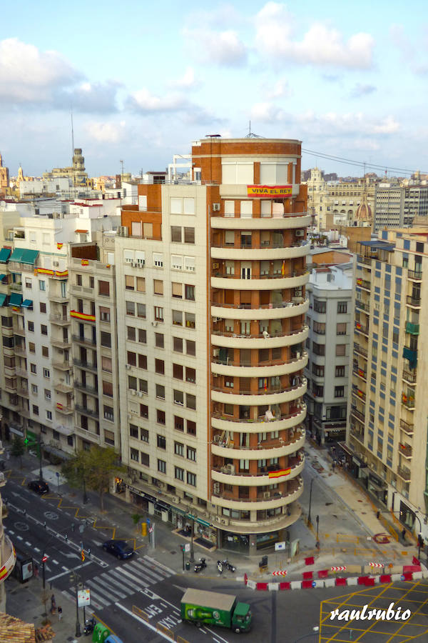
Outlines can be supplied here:
[[[294, 301], [293, 301], [294, 299]], [[212, 304], [211, 315], [220, 319], [287, 319], [305, 314], [309, 310], [309, 299], [294, 297], [291, 301], [282, 301], [280, 304], [265, 304], [259, 308], [251, 308], [245, 304]]]

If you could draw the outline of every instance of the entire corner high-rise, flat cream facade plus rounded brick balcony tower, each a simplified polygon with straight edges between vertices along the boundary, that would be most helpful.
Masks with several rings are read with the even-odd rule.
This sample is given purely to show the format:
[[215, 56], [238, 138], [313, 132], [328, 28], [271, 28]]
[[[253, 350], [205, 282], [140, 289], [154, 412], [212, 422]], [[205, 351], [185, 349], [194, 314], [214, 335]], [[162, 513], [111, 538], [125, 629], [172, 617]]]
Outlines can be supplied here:
[[210, 137], [191, 161], [188, 180], [138, 186], [116, 239], [126, 496], [254, 553], [300, 516], [300, 142]]

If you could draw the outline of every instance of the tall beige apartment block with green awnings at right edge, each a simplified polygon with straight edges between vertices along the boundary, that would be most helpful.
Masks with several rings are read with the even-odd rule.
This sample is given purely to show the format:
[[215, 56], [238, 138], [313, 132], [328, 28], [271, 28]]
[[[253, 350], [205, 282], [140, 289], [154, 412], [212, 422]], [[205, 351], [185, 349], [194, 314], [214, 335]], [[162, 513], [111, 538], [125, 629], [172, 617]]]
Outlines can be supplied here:
[[409, 529], [428, 537], [427, 227], [360, 244], [350, 427], [352, 474]]

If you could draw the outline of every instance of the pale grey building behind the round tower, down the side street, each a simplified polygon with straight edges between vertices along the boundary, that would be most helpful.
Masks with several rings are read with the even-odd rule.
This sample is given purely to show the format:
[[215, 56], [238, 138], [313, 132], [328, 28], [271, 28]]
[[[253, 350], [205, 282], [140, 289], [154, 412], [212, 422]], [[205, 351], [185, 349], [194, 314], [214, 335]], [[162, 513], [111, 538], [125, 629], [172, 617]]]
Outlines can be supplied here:
[[[322, 263], [323, 254], [313, 257]], [[307, 426], [319, 444], [345, 439], [352, 338], [352, 262], [335, 252], [334, 264], [312, 269], [307, 294]]]

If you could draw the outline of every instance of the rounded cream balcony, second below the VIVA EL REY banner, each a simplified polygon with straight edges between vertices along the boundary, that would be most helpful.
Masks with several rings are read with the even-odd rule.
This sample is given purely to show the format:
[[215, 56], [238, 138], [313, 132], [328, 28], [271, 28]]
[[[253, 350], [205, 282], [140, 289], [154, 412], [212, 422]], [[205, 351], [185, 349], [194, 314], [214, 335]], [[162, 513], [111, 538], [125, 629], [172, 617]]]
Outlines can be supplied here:
[[300, 256], [309, 254], [309, 244], [300, 243], [291, 246], [277, 246], [269, 244], [265, 246], [241, 246], [236, 248], [230, 244], [223, 246], [211, 246], [211, 259], [227, 259], [228, 261], [275, 261], [275, 259], [298, 259]]

